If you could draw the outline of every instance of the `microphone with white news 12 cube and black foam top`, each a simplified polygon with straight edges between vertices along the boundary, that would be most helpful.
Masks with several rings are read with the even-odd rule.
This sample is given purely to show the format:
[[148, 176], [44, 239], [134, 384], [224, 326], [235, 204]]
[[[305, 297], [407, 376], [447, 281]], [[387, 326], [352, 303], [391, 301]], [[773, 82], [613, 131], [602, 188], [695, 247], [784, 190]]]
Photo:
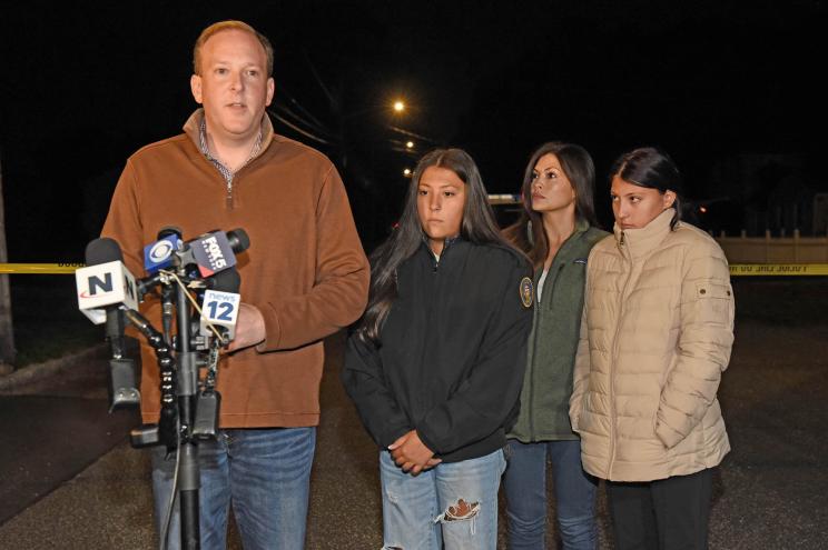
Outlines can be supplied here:
[[220, 271], [207, 279], [199, 319], [201, 336], [213, 336], [209, 328], [211, 324], [219, 329], [223, 343], [229, 343], [235, 338], [236, 320], [241, 303], [241, 297], [238, 294], [240, 284], [241, 278], [235, 268]]

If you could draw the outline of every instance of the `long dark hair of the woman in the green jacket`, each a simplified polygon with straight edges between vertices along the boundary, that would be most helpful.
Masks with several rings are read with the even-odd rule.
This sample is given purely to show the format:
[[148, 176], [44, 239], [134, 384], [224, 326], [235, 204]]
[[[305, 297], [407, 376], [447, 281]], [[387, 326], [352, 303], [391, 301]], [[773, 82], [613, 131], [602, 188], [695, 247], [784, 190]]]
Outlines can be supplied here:
[[543, 143], [532, 153], [523, 173], [521, 217], [503, 231], [512, 244], [529, 256], [535, 268], [543, 263], [549, 254], [549, 239], [546, 239], [546, 231], [543, 230], [543, 217], [540, 212], [532, 210], [532, 172], [538, 161], [545, 154], [554, 154], [558, 158], [563, 172], [575, 190], [575, 217], [586, 220], [590, 226], [598, 227], [593, 202], [595, 164], [592, 162], [592, 157], [586, 149], [575, 143], [562, 141]]

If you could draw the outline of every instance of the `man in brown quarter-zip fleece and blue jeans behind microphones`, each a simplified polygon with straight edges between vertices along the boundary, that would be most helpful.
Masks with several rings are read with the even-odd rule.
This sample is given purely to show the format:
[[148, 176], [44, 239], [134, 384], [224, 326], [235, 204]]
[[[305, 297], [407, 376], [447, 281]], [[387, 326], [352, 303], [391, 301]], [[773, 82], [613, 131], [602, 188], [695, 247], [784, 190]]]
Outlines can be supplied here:
[[[215, 23], [194, 50], [198, 109], [184, 133], [127, 161], [102, 234], [141, 273], [142, 247], [176, 226], [186, 239], [240, 227], [250, 248], [241, 276], [236, 339], [219, 364], [218, 440], [199, 444], [203, 548], [225, 548], [227, 510], [246, 548], [304, 546], [322, 339], [355, 321], [367, 298], [368, 263], [336, 169], [322, 153], [274, 133], [273, 49], [240, 21]], [[142, 310], [159, 326], [158, 300]], [[141, 413], [159, 414], [155, 354], [142, 347]], [[156, 448], [157, 521], [174, 460]], [[170, 543], [177, 546], [177, 514]], [[170, 547], [170, 548], [172, 548]]]

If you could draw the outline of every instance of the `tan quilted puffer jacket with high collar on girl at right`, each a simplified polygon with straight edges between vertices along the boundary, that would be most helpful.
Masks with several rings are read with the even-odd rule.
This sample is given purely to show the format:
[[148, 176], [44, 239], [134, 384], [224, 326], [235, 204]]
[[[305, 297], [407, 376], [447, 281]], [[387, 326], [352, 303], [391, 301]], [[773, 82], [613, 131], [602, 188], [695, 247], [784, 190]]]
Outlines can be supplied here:
[[652, 481], [730, 450], [716, 392], [733, 343], [727, 259], [668, 209], [592, 249], [570, 400], [584, 469]]

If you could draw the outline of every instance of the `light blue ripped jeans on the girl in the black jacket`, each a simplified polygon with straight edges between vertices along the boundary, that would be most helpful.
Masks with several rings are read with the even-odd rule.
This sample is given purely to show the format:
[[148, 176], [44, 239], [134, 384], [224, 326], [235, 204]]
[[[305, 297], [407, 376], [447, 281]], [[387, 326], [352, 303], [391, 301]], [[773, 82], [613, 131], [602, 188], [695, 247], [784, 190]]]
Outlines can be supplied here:
[[388, 451], [379, 451], [383, 548], [494, 550], [497, 489], [505, 467], [499, 449], [412, 476], [394, 463]]

